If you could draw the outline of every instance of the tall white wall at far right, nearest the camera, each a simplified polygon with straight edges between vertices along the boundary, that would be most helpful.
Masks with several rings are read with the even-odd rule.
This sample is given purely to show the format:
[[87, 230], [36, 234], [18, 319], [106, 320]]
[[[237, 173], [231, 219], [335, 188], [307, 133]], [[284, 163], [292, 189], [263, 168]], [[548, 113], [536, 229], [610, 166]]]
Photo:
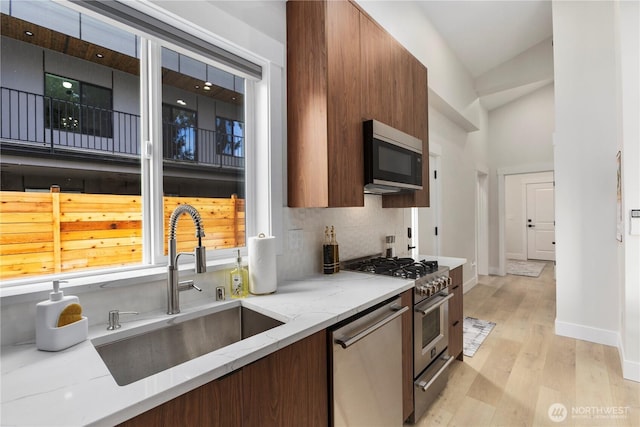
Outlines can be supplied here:
[[[637, 170], [640, 163], [638, 8], [622, 6], [631, 14], [621, 31], [619, 7], [618, 2], [553, 3], [556, 333], [610, 345], [618, 345], [622, 335], [624, 374], [630, 377], [633, 371], [640, 380], [640, 337], [630, 333], [637, 332], [640, 305], [637, 237], [624, 236], [630, 240], [625, 249], [636, 256], [632, 265], [625, 265], [615, 238], [618, 149], [623, 146], [635, 154], [627, 158], [625, 153], [625, 169]], [[633, 89], [630, 98], [622, 97]], [[622, 117], [631, 122], [625, 120], [623, 126]], [[638, 203], [640, 181], [635, 178], [625, 181], [623, 197]], [[625, 279], [626, 271], [630, 274]], [[630, 319], [635, 325], [627, 323]]]

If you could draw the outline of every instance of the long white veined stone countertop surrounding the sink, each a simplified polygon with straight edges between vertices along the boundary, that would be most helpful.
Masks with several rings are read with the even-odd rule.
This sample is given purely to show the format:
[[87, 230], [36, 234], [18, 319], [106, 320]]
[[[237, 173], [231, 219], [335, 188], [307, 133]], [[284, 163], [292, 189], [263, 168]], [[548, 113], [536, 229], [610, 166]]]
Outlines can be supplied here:
[[[3, 346], [0, 425], [117, 424], [412, 287], [411, 280], [381, 275], [316, 275], [282, 283], [272, 295], [182, 307], [176, 316], [125, 316], [118, 331], [92, 327], [88, 340], [60, 352], [39, 351], [33, 343]], [[116, 384], [92, 344], [238, 304], [285, 324], [126, 386]]]

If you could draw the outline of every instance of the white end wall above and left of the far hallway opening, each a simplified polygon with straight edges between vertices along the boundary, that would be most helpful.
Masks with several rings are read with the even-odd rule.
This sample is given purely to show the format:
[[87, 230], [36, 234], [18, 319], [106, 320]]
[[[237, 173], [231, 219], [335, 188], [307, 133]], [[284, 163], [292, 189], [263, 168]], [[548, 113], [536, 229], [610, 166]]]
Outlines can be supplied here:
[[[489, 271], [500, 266], [500, 172], [553, 168], [553, 85], [489, 112]], [[504, 209], [504, 207], [502, 207]]]

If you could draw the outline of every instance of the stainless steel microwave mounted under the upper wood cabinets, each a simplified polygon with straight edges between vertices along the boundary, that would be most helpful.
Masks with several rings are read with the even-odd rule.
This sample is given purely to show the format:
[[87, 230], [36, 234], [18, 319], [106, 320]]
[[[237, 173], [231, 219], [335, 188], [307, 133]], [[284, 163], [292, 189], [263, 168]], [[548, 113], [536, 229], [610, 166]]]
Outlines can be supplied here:
[[422, 190], [422, 141], [376, 120], [363, 131], [365, 193]]

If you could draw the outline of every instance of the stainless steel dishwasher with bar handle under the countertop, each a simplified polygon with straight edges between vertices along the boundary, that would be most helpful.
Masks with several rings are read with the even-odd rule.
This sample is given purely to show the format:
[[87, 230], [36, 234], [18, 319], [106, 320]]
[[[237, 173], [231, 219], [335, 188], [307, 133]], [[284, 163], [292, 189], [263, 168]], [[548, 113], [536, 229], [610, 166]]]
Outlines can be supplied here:
[[331, 332], [332, 419], [338, 426], [402, 426], [400, 297]]

